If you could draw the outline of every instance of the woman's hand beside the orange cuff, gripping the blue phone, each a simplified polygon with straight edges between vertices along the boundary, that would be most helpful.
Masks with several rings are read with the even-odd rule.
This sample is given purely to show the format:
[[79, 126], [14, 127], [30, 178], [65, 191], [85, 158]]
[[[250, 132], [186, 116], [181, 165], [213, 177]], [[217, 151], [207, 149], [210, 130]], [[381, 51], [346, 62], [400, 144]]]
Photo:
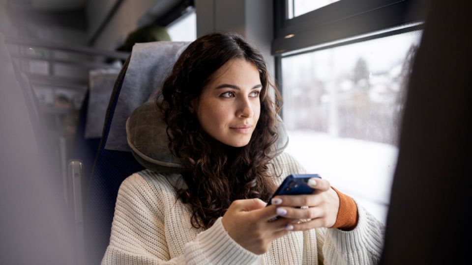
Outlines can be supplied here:
[[308, 184], [316, 189], [310, 195], [279, 195], [271, 201], [272, 204], [278, 206], [277, 213], [282, 217], [296, 220], [309, 219], [300, 223], [292, 221], [293, 227], [288, 226], [289, 230], [329, 228], [336, 222], [339, 211], [339, 197], [336, 191], [331, 188], [328, 181], [323, 179], [312, 178]]

